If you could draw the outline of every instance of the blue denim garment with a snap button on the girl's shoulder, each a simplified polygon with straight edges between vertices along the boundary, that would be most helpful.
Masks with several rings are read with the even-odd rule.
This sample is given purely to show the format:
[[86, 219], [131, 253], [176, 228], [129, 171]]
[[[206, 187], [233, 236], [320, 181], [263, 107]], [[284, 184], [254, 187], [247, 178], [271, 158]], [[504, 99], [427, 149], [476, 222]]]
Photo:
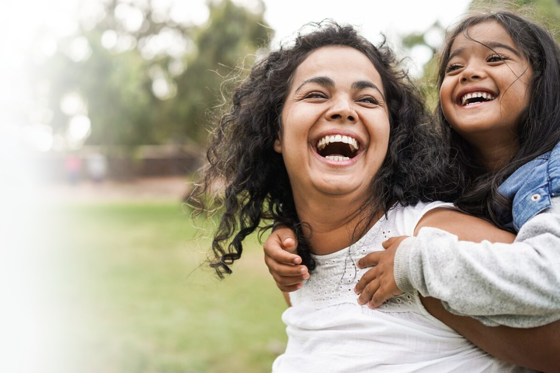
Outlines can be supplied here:
[[513, 201], [503, 222], [517, 232], [526, 221], [548, 209], [550, 198], [560, 193], [560, 143], [518, 168], [498, 190]]

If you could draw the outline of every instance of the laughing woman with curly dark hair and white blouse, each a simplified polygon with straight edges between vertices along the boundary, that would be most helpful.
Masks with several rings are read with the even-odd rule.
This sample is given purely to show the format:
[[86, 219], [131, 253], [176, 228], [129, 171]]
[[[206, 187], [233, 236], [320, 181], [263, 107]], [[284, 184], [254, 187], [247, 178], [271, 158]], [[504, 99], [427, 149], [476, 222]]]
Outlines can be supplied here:
[[251, 69], [208, 150], [203, 190], [226, 180], [212, 266], [218, 275], [230, 272], [263, 218], [296, 228], [317, 281], [290, 296], [288, 346], [273, 371], [529, 371], [438, 322], [417, 292], [380, 310], [348, 298], [362, 273], [351, 259], [388, 234], [430, 225], [428, 216], [465, 219], [475, 227], [461, 233], [465, 239], [485, 230], [512, 240], [450, 204], [430, 202], [456, 190], [435, 188], [452, 185], [449, 165], [435, 132], [420, 124], [422, 102], [393, 63], [390, 50], [351, 27], [327, 25]]

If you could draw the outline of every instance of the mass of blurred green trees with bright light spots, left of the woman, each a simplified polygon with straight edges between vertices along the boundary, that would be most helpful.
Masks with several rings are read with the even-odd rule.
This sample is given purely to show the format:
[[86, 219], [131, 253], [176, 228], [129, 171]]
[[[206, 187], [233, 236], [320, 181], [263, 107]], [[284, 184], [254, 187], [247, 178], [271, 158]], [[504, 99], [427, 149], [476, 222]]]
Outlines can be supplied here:
[[[208, 2], [208, 21], [193, 25], [157, 16], [145, 2], [135, 10], [144, 17], [136, 31], [117, 16], [119, 6], [133, 3], [104, 4], [95, 27], [82, 25], [78, 35], [60, 40], [57, 53], [38, 69], [36, 81], [48, 82], [54, 134], [66, 135], [69, 117], [60, 101], [76, 92], [91, 120], [87, 144], [128, 154], [142, 144], [204, 144], [225, 76], [242, 74], [243, 56], [268, 48], [273, 32], [263, 20], [264, 4], [248, 10], [230, 0]], [[104, 37], [112, 37], [114, 46], [104, 46]], [[153, 51], [158, 37], [169, 50]], [[85, 58], [72, 58], [76, 40], [87, 41], [91, 53]]]

